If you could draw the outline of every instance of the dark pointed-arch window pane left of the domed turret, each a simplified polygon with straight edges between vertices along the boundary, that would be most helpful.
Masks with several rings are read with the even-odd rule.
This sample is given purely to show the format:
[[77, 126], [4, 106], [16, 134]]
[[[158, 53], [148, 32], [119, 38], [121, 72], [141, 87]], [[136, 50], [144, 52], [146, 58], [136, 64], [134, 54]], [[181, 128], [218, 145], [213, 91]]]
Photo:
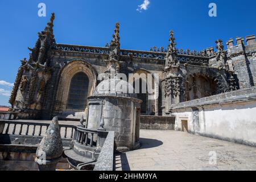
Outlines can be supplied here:
[[85, 110], [88, 97], [89, 78], [83, 73], [76, 73], [71, 79], [67, 109]]

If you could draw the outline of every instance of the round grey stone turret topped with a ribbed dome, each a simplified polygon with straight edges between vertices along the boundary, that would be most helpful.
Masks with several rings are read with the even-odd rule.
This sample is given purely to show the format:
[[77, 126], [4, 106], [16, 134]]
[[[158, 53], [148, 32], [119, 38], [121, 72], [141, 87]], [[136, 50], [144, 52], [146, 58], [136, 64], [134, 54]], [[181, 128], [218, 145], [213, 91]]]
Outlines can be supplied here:
[[[115, 131], [118, 151], [134, 150], [139, 144], [141, 100], [129, 82], [113, 76], [98, 84], [88, 97], [88, 129]], [[102, 126], [104, 119], [104, 126]]]

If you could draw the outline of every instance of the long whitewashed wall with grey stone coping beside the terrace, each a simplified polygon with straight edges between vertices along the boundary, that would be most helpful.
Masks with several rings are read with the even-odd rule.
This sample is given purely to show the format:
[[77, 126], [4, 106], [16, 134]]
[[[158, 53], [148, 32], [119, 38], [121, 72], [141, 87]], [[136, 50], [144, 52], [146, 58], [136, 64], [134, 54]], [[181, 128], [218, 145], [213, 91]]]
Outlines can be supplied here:
[[175, 130], [256, 146], [256, 87], [183, 102], [172, 108]]

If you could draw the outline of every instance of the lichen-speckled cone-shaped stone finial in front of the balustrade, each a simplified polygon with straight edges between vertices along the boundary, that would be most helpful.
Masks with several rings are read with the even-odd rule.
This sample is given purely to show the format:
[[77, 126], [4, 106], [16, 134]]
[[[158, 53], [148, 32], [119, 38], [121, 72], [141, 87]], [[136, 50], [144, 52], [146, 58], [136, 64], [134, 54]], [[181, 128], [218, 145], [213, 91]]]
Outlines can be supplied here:
[[39, 171], [55, 171], [56, 165], [61, 159], [63, 144], [60, 135], [58, 118], [52, 119], [46, 135], [43, 137], [36, 150], [35, 162], [38, 163]]

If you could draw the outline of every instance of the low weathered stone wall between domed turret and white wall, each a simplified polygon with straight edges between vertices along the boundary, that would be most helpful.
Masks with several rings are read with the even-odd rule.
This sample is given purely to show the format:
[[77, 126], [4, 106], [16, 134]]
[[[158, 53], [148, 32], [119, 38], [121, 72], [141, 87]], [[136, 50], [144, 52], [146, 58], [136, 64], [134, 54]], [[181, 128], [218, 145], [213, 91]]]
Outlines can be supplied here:
[[174, 130], [175, 117], [141, 115], [141, 129]]

